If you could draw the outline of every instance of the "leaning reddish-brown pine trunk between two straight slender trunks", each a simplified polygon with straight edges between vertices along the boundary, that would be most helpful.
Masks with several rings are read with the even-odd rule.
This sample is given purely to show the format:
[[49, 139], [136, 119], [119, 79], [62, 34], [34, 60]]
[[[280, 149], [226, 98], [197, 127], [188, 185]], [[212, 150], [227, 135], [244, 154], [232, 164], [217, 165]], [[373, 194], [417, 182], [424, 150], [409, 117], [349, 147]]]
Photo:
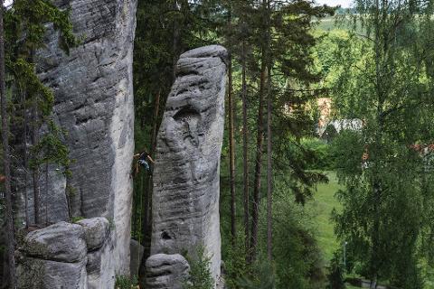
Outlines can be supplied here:
[[263, 106], [265, 94], [265, 81], [267, 78], [267, 65], [265, 61], [265, 49], [262, 49], [262, 64], [260, 69], [259, 83], [259, 107], [257, 120], [257, 138], [256, 138], [256, 163], [255, 163], [255, 181], [253, 187], [253, 204], [251, 212], [251, 236], [250, 236], [250, 262], [256, 259], [258, 245], [258, 220], [259, 220], [259, 201], [260, 201], [260, 178], [262, 170], [262, 146], [264, 143], [263, 130]]

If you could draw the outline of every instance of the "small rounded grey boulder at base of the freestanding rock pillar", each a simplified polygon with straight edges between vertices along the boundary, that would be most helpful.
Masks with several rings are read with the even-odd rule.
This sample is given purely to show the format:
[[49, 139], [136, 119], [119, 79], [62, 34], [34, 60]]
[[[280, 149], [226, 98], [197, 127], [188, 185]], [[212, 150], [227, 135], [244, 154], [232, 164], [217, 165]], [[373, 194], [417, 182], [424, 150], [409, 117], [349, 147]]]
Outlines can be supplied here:
[[184, 256], [178, 254], [150, 256], [146, 260], [146, 288], [182, 289], [189, 269]]

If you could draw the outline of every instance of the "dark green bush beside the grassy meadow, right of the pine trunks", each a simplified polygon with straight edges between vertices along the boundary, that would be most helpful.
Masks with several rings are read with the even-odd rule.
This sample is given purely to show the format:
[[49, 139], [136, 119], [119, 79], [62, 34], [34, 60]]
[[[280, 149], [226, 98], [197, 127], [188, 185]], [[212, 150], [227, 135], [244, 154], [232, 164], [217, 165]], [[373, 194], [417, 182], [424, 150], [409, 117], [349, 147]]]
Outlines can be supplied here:
[[273, 203], [273, 265], [278, 288], [324, 288], [324, 262], [311, 211], [282, 195], [276, 182]]

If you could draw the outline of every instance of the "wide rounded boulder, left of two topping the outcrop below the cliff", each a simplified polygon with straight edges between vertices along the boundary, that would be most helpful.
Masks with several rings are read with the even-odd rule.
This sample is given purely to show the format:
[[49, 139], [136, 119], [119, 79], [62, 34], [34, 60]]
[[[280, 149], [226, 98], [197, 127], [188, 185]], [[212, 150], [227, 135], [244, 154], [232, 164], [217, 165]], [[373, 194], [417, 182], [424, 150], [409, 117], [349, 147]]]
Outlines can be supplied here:
[[58, 262], [80, 262], [88, 252], [80, 225], [60, 222], [30, 232], [20, 248], [25, 256]]

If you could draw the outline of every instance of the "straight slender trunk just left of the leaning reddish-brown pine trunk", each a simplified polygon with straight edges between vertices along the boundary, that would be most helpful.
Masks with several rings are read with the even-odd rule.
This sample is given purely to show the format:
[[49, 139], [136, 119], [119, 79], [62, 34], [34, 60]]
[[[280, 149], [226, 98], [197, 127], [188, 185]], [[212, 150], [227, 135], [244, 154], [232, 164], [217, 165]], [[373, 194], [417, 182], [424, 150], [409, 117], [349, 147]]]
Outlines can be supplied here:
[[248, 162], [248, 126], [247, 126], [247, 79], [246, 79], [246, 43], [242, 42], [242, 166], [244, 185], [244, 233], [246, 249], [250, 245], [249, 229], [249, 162]]

